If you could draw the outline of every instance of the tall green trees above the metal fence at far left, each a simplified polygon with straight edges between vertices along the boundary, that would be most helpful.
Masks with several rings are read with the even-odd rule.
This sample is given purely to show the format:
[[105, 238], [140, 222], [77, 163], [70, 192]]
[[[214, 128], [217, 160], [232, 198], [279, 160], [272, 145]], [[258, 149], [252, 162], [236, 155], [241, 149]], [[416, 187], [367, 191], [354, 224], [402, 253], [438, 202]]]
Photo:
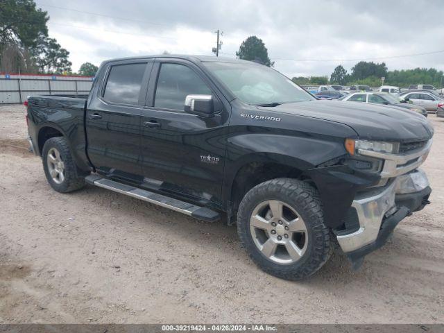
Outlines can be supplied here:
[[47, 12], [36, 8], [33, 0], [0, 1], [0, 70], [71, 70], [69, 52], [48, 37]]

